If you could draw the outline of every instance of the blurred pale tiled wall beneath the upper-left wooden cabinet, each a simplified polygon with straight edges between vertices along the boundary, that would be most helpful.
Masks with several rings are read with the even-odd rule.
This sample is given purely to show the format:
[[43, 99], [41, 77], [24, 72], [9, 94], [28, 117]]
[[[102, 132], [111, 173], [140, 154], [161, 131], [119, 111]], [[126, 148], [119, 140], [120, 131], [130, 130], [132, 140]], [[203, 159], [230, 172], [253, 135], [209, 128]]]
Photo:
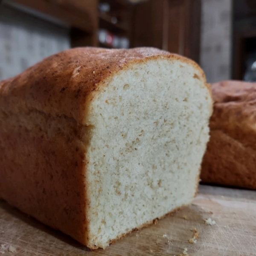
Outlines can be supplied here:
[[0, 81], [68, 48], [68, 29], [0, 6]]

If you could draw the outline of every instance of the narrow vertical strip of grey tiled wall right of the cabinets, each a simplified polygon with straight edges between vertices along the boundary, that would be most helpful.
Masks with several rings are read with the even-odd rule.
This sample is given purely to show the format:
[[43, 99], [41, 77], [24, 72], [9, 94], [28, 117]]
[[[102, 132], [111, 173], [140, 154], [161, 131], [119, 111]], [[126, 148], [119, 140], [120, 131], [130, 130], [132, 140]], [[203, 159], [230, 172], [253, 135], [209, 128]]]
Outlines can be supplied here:
[[202, 0], [200, 64], [210, 83], [231, 77], [232, 0]]

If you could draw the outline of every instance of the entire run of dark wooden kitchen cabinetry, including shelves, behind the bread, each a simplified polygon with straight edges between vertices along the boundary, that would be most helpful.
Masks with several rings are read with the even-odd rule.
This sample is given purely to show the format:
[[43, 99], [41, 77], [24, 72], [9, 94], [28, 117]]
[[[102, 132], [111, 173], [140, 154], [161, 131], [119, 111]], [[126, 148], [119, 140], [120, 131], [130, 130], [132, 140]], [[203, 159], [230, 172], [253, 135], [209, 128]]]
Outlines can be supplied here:
[[[69, 24], [72, 47], [100, 46], [99, 29], [128, 38], [130, 47], [157, 47], [199, 61], [201, 0], [14, 0]], [[111, 11], [100, 13], [99, 3]], [[113, 17], [119, 17], [113, 22]]]

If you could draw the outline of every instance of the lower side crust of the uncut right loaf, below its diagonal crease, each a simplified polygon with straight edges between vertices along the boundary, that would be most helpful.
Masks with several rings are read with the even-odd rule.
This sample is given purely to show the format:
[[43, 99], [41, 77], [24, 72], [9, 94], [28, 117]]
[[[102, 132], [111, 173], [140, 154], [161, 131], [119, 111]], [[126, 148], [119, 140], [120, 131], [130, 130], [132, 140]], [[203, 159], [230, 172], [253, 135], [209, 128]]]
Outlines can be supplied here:
[[214, 130], [202, 163], [203, 182], [256, 189], [256, 151]]

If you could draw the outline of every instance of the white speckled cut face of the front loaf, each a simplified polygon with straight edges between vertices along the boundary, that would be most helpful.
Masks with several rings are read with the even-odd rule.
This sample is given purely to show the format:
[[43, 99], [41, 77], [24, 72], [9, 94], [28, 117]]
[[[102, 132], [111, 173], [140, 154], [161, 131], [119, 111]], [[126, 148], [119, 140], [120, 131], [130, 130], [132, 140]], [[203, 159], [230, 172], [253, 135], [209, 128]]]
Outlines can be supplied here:
[[212, 111], [201, 70], [186, 61], [130, 64], [104, 83], [86, 120], [90, 248], [192, 202]]

